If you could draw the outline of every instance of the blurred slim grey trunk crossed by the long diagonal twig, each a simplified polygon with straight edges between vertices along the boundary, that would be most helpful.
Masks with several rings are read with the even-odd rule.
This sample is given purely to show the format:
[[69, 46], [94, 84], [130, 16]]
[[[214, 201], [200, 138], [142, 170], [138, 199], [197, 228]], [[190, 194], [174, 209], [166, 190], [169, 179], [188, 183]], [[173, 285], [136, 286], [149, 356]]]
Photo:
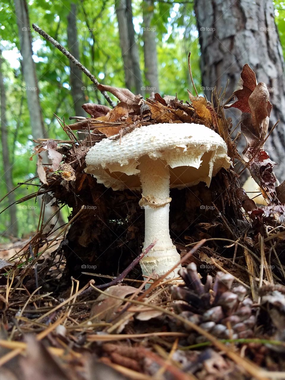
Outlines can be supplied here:
[[[67, 16], [67, 44], [69, 51], [78, 61], [79, 57], [79, 45], [77, 39], [76, 28], [76, 4], [71, 3], [70, 13]], [[86, 116], [86, 112], [82, 109], [82, 104], [86, 103], [83, 92], [82, 72], [81, 70], [70, 62], [70, 87], [71, 95], [73, 99], [74, 112], [76, 116]]]

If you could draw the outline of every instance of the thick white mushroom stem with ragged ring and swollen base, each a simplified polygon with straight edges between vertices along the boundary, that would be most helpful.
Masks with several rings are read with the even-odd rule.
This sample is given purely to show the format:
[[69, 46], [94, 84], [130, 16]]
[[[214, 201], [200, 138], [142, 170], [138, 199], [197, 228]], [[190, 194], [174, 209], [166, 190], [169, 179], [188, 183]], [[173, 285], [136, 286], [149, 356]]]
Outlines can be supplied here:
[[[144, 249], [154, 239], [157, 240], [140, 262], [142, 275], [147, 277], [155, 272], [161, 276], [180, 260], [169, 235], [169, 169], [165, 161], [160, 158], [153, 160], [149, 156], [141, 157], [138, 169], [142, 186], [139, 204], [145, 210]], [[179, 268], [171, 272], [168, 278], [178, 277]]]

